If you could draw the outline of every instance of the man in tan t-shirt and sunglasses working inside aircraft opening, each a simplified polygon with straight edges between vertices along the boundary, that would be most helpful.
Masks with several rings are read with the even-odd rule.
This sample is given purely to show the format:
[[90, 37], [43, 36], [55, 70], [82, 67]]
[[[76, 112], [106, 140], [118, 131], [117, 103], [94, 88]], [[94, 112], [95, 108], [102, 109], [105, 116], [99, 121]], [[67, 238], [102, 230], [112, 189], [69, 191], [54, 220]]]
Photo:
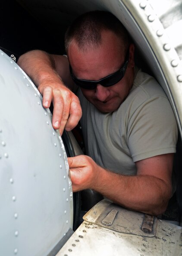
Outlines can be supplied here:
[[[82, 116], [88, 156], [68, 159], [73, 191], [92, 188], [124, 207], [161, 214], [172, 195], [177, 141], [166, 95], [135, 68], [134, 45], [111, 13], [80, 16], [65, 42], [68, 58], [32, 51], [19, 65], [38, 85], [43, 106], [53, 101], [55, 129], [72, 130]], [[78, 97], [64, 84], [76, 84]]]

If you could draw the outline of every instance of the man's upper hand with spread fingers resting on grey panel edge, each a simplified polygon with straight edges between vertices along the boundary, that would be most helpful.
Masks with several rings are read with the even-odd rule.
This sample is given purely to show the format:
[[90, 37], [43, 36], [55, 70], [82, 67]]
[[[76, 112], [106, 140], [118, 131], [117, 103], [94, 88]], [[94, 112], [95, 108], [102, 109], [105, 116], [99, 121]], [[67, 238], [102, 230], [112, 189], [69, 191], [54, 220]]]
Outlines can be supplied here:
[[39, 84], [38, 90], [43, 95], [43, 107], [49, 108], [53, 101], [53, 128], [59, 129], [61, 135], [64, 128], [72, 130], [82, 117], [78, 97], [63, 84], [47, 79]]

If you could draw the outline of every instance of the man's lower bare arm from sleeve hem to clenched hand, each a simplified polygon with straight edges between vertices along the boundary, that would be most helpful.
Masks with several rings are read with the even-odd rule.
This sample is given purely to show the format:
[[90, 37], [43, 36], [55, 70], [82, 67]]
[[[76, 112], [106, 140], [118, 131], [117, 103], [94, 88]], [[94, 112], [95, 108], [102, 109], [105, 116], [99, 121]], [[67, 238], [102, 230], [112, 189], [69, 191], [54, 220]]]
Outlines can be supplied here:
[[172, 193], [173, 154], [144, 159], [136, 166], [136, 176], [125, 176], [101, 168], [88, 156], [69, 158], [73, 191], [92, 188], [129, 209], [163, 213]]

